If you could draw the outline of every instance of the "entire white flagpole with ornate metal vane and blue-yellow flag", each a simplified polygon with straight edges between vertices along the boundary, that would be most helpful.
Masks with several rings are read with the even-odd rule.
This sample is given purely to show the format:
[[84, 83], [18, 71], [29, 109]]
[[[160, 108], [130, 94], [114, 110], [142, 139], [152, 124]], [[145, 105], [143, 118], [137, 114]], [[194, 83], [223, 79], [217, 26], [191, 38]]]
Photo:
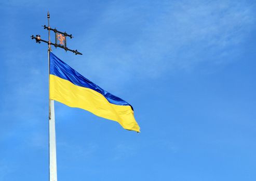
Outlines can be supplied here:
[[[50, 14], [47, 13], [48, 41], [40, 35], [31, 36], [37, 43], [48, 44], [49, 73], [49, 180], [57, 181], [56, 133], [54, 100], [69, 107], [80, 108], [97, 116], [118, 122], [123, 128], [140, 132], [140, 127], [134, 119], [132, 106], [123, 99], [102, 89], [89, 81], [76, 70], [64, 63], [51, 52], [51, 45], [82, 55], [77, 50], [66, 47], [66, 37], [73, 38], [66, 32], [60, 32], [50, 27]], [[55, 33], [55, 43], [50, 41], [50, 31]]]

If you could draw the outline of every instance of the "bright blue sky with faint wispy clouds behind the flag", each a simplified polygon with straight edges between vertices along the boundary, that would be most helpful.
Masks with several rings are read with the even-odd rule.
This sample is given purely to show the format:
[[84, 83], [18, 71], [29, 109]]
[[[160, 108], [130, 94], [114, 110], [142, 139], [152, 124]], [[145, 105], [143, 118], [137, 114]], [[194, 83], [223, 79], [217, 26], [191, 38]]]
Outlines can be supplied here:
[[1, 1], [0, 180], [48, 179], [53, 49], [141, 133], [56, 102], [59, 180], [256, 180], [255, 1]]

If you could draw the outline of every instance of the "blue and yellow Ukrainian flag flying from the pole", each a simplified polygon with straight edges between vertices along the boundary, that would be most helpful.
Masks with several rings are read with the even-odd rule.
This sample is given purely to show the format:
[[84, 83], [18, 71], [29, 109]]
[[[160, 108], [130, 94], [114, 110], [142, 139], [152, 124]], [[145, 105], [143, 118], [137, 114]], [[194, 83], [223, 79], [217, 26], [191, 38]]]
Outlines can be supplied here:
[[131, 105], [106, 92], [50, 52], [50, 99], [118, 122], [140, 132]]

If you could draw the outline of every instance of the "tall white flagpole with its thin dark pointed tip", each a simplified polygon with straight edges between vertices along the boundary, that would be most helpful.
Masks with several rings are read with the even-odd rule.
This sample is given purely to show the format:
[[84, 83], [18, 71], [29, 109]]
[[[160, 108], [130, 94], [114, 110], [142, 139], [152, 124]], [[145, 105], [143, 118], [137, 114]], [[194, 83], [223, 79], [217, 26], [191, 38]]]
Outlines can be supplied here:
[[49, 181], [57, 181], [56, 133], [54, 101], [50, 99], [50, 13], [48, 19], [48, 82], [49, 82]]

